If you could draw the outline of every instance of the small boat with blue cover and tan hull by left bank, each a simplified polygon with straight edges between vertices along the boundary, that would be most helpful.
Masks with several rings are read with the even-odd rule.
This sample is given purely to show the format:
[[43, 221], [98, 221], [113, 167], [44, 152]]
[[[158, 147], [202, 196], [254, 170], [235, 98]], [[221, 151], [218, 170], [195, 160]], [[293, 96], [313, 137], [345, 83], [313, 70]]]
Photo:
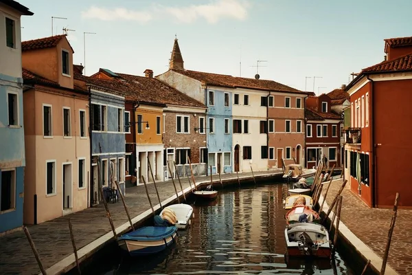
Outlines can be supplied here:
[[155, 254], [176, 242], [176, 231], [176, 226], [145, 226], [120, 236], [117, 243], [130, 256]]

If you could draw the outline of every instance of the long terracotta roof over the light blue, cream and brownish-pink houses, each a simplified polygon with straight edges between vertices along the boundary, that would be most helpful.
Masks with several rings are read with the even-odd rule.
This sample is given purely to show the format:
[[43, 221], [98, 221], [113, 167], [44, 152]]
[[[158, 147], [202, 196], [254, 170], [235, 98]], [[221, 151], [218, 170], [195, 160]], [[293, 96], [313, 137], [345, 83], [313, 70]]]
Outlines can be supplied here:
[[[302, 93], [298, 89], [288, 87], [281, 83], [277, 83], [273, 80], [257, 80], [254, 78], [241, 78], [237, 76], [229, 76], [225, 74], [211, 74], [206, 72], [196, 72], [190, 70], [173, 70], [179, 74], [183, 74], [190, 78], [205, 83], [206, 85], [212, 85], [217, 87], [229, 87], [229, 88], [245, 88], [245, 89], [258, 89], [263, 91], [286, 91], [292, 93]], [[305, 93], [306, 94], [306, 93]]]

